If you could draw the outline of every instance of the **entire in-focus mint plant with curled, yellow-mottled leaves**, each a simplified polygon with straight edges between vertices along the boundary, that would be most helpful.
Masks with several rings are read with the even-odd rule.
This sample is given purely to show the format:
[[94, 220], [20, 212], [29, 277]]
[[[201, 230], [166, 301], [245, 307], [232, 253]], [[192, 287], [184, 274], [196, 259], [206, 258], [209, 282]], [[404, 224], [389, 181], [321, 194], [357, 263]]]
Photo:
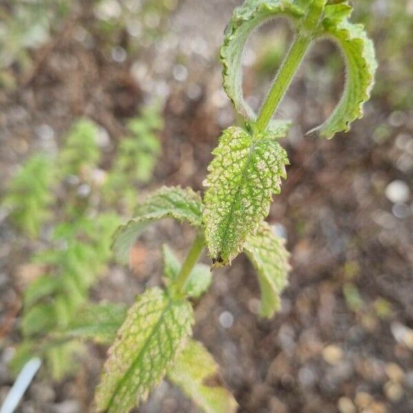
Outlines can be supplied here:
[[[196, 235], [182, 264], [164, 246], [165, 289], [147, 289], [127, 311], [96, 391], [99, 412], [131, 410], [165, 376], [205, 412], [236, 410], [229, 392], [208, 384], [216, 365], [202, 344], [191, 339], [191, 298], [200, 297], [211, 282], [209, 268], [198, 264], [198, 259], [207, 248], [213, 270], [231, 264], [244, 252], [257, 270], [261, 315], [272, 317], [279, 308], [290, 268], [288, 252], [264, 218], [286, 178], [288, 157], [278, 140], [287, 135], [290, 123], [272, 117], [309, 47], [328, 38], [337, 43], [346, 60], [346, 85], [330, 118], [314, 131], [332, 138], [361, 118], [377, 63], [363, 27], [348, 20], [351, 12], [350, 3], [341, 0], [246, 0], [233, 12], [221, 60], [224, 89], [244, 125], [222, 133], [208, 167], [203, 198], [189, 188], [162, 187], [139, 204], [134, 218], [116, 232], [114, 251], [123, 260], [140, 233], [156, 220], [188, 222]], [[242, 94], [242, 52], [249, 34], [275, 17], [290, 19], [295, 37], [255, 114]]]

